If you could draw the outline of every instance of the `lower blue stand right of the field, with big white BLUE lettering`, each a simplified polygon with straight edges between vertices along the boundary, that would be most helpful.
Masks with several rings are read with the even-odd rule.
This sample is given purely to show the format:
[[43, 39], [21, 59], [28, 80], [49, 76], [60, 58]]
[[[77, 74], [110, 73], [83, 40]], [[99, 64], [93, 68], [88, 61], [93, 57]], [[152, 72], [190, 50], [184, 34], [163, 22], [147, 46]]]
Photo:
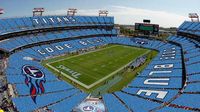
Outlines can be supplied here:
[[[117, 39], [117, 38], [116, 38]], [[117, 39], [120, 40], [120, 39]], [[124, 39], [126, 40], [126, 39]], [[137, 41], [137, 38], [135, 39]], [[181, 60], [181, 48], [179, 46], [164, 43], [156, 40], [145, 40], [140, 39], [140, 41], [146, 41], [148, 44], [131, 44], [130, 40], [124, 41], [123, 44], [134, 45], [134, 46], [142, 46], [150, 49], [156, 49], [159, 51], [159, 54], [156, 58], [152, 60], [152, 62], [132, 81], [127, 88], [124, 88], [120, 92], [115, 92], [113, 94], [108, 94], [104, 96], [104, 101], [108, 107], [109, 112], [115, 112], [116, 110], [122, 109], [123, 112], [129, 112], [130, 110], [134, 112], [150, 111], [154, 108], [157, 108], [163, 105], [166, 102], [174, 100], [174, 96], [176, 96], [180, 88], [182, 87], [182, 60]], [[134, 43], [138, 43], [134, 41]], [[163, 55], [171, 54], [171, 58], [163, 57]], [[156, 65], [162, 64], [173, 64], [173, 68], [169, 69], [156, 69]], [[156, 72], [157, 71], [157, 72]], [[151, 72], [154, 72], [153, 75], [149, 75]], [[146, 79], [154, 79], [154, 78], [169, 78], [169, 82], [167, 85], [151, 85], [145, 84], [144, 81]], [[159, 82], [159, 81], [158, 81]], [[165, 81], [166, 82], [166, 81]], [[146, 94], [138, 94], [139, 90], [155, 90], [155, 91], [165, 91], [167, 95], [164, 98], [157, 98], [157, 95], [146, 95]], [[112, 103], [111, 101], [115, 101], [118, 99], [118, 103]], [[120, 102], [122, 101], [122, 102]], [[125, 108], [126, 107], [126, 108]], [[180, 111], [181, 109], [172, 108], [172, 107], [164, 107], [162, 109], [158, 109], [157, 111], [166, 110], [170, 112]], [[184, 110], [182, 110], [184, 111]]]

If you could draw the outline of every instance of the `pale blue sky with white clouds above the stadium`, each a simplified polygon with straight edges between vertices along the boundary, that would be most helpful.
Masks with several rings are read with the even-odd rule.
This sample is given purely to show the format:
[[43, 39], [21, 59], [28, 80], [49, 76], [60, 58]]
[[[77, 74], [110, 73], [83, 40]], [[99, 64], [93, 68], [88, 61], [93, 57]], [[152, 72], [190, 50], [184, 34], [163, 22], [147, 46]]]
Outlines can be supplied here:
[[76, 8], [77, 15], [97, 16], [99, 10], [108, 10], [117, 24], [150, 19], [162, 27], [178, 27], [189, 20], [188, 13], [200, 14], [200, 0], [0, 0], [5, 11], [0, 18], [32, 16], [36, 7], [45, 8], [44, 15], [66, 15], [68, 8]]

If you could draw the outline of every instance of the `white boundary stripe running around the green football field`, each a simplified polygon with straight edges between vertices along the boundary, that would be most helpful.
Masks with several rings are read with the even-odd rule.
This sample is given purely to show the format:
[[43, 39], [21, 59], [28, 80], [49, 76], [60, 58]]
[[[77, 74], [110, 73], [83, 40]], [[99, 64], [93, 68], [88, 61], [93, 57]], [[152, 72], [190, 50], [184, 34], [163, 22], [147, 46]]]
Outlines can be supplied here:
[[[115, 47], [115, 46], [118, 46], [118, 45], [110, 46], [110, 47], [107, 47], [107, 48], [111, 48], [111, 47]], [[104, 50], [104, 49], [107, 49], [107, 48], [103, 48], [103, 49], [91, 51], [91, 52], [88, 52], [88, 53], [92, 53], [92, 52], [96, 52], [96, 51], [101, 51], [101, 50]], [[150, 50], [147, 50], [145, 53], [141, 54], [140, 56], [146, 54], [147, 52], [150, 52]], [[83, 54], [80, 54], [80, 55], [84, 55], [84, 54], [88, 54], [88, 53], [83, 53]], [[75, 56], [72, 56], [72, 57], [77, 57], [77, 56], [80, 56], [80, 55], [75, 55]], [[138, 56], [138, 57], [140, 57], [140, 56]], [[94, 82], [94, 83], [92, 83], [92, 84], [90, 84], [90, 85], [86, 85], [86, 84], [80, 82], [79, 80], [77, 80], [77, 79], [71, 77], [70, 75], [67, 75], [66, 73], [64, 73], [64, 72], [62, 72], [62, 71], [59, 71], [57, 68], [55, 68], [55, 67], [53, 67], [53, 66], [50, 65], [50, 64], [55, 63], [55, 62], [58, 62], [58, 61], [63, 61], [63, 60], [70, 59], [70, 58], [72, 58], [72, 57], [67, 57], [67, 58], [64, 58], [64, 59], [60, 59], [60, 60], [56, 60], [56, 61], [53, 61], [53, 62], [50, 62], [50, 63], [46, 63], [46, 65], [47, 65], [48, 67], [50, 67], [51, 69], [55, 70], [56, 72], [61, 73], [62, 75], [66, 76], [66, 77], [69, 78], [70, 80], [72, 80], [72, 81], [78, 83], [79, 85], [85, 87], [86, 89], [92, 88], [93, 86], [95, 86], [95, 85], [97, 85], [98, 83], [104, 81], [105, 79], [111, 77], [112, 75], [116, 74], [117, 72], [121, 71], [124, 67], [126, 67], [126, 66], [128, 66], [129, 64], [132, 63], [132, 61], [131, 61], [131, 62], [127, 63], [126, 65], [120, 67], [119, 69], [113, 71], [112, 73], [106, 75], [105, 77], [99, 79], [98, 81], [96, 81], [96, 82]]]

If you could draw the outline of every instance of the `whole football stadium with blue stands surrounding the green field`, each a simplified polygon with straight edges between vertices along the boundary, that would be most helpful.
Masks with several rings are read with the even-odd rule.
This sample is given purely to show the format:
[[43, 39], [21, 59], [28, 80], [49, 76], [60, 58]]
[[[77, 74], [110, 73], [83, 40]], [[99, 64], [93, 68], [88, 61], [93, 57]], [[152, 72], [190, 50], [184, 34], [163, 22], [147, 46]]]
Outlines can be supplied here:
[[0, 112], [200, 112], [198, 13], [166, 28], [38, 1], [16, 17], [1, 2]]

